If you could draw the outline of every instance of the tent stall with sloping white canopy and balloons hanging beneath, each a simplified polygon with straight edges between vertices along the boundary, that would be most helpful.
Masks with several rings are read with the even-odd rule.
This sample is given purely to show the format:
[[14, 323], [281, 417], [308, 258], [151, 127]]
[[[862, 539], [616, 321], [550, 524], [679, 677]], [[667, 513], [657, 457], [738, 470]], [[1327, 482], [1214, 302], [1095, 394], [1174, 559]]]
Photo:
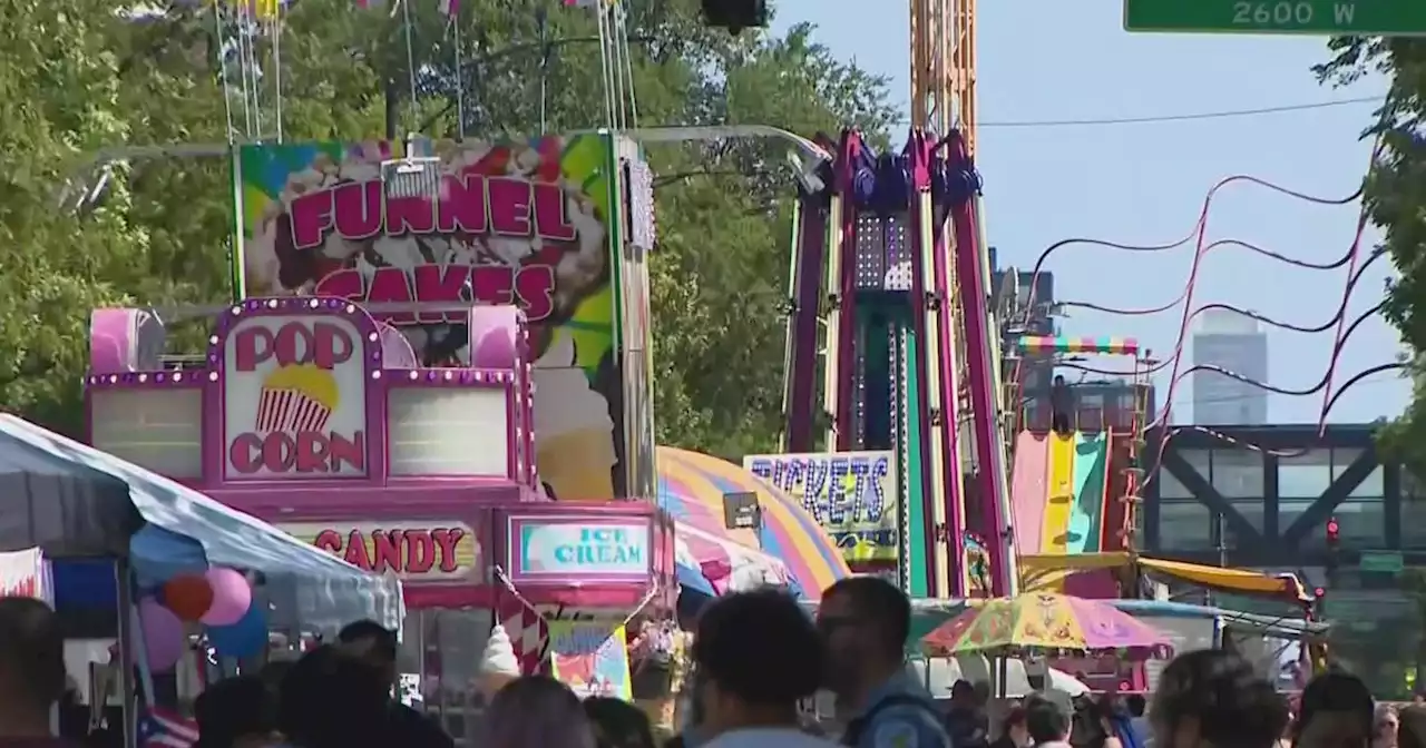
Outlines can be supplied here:
[[[3, 594], [44, 598], [66, 618], [77, 611], [56, 594], [63, 583], [54, 581], [54, 564], [97, 564], [107, 574], [100, 584], [107, 591], [70, 597], [107, 604], [117, 630], [94, 634], [97, 648], [94, 641], [67, 641], [66, 661], [78, 700], [88, 697], [96, 714], [106, 690], [83, 681], [98, 671], [117, 681], [130, 745], [141, 711], [193, 697], [178, 687], [165, 698], [154, 688], [155, 675], [201, 671], [210, 661], [262, 661], [277, 631], [321, 635], [351, 620], [394, 625], [404, 615], [395, 578], [355, 568], [193, 489], [9, 415], [0, 415], [0, 516]], [[98, 670], [87, 667], [91, 661]]]

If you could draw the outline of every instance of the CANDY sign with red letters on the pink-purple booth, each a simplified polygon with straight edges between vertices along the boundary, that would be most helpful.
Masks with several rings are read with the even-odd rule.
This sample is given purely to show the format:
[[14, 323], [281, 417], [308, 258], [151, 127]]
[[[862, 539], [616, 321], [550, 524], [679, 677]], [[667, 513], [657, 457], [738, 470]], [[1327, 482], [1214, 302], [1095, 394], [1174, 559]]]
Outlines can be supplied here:
[[329, 521], [278, 527], [358, 568], [411, 581], [468, 581], [481, 566], [475, 533], [459, 521]]

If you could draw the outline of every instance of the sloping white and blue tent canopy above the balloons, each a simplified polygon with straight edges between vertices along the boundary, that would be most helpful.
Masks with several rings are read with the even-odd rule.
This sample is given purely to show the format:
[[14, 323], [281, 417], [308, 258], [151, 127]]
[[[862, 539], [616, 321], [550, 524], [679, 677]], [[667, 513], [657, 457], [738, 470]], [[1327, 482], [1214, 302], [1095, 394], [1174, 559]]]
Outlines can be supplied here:
[[125, 557], [141, 586], [221, 566], [258, 571], [278, 625], [399, 625], [401, 584], [167, 477], [0, 415], [0, 551]]

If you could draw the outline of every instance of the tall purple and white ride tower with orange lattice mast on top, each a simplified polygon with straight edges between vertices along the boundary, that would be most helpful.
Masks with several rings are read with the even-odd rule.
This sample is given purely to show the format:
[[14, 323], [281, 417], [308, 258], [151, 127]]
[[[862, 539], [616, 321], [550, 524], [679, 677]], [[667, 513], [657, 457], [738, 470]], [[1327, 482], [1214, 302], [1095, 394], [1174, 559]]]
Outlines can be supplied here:
[[813, 449], [820, 312], [826, 449], [896, 454], [897, 577], [915, 597], [1017, 587], [974, 63], [973, 0], [911, 0], [908, 142], [877, 154], [843, 133], [794, 241], [786, 447]]

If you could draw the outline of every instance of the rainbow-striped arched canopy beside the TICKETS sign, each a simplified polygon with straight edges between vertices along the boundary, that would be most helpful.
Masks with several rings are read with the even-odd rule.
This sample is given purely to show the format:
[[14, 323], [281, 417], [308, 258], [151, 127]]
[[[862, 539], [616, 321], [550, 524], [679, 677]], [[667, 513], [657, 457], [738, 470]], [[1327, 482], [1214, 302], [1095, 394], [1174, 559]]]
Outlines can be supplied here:
[[[657, 466], [659, 504], [673, 519], [781, 559], [804, 597], [817, 600], [831, 583], [851, 576], [841, 551], [811, 514], [753, 473], [677, 447], [659, 447]], [[727, 529], [723, 521], [727, 493], [757, 496], [763, 509], [759, 533]]]

